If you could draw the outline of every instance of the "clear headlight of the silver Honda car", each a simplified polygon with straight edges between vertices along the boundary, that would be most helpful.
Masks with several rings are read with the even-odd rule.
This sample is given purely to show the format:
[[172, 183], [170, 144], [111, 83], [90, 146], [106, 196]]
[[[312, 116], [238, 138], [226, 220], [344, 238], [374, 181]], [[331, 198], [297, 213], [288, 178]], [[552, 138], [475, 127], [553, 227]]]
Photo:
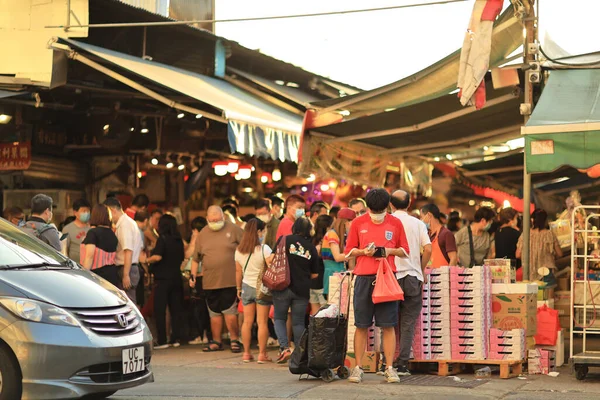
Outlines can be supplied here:
[[3, 298], [0, 299], [7, 310], [28, 321], [42, 324], [80, 326], [79, 321], [68, 311], [52, 304], [29, 299]]

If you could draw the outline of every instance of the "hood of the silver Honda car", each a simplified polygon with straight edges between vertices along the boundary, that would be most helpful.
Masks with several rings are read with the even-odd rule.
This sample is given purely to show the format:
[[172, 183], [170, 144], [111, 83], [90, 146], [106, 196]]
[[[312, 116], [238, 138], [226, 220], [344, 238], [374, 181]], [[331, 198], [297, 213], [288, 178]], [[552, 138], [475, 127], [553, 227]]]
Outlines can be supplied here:
[[127, 303], [122, 291], [85, 270], [1, 271], [0, 280], [30, 299], [59, 307], [97, 308]]

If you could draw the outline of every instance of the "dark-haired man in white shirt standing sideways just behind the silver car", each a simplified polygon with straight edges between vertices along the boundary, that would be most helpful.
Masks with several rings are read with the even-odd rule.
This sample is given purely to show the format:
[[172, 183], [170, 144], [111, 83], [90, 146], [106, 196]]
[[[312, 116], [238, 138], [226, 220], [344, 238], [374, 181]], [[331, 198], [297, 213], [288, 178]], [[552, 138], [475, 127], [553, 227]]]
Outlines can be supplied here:
[[136, 222], [123, 212], [121, 202], [115, 197], [109, 197], [104, 205], [110, 209], [112, 222], [116, 226], [117, 256], [115, 263], [122, 277], [119, 289], [124, 290], [127, 296], [136, 302], [135, 289], [140, 281], [140, 253], [142, 252], [142, 238]]

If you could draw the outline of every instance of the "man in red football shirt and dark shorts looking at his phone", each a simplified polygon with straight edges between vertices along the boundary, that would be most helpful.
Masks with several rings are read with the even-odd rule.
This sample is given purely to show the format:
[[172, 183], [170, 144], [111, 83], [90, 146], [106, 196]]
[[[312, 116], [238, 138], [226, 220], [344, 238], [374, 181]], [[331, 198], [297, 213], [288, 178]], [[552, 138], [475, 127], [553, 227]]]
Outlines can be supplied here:
[[[354, 268], [354, 352], [356, 367], [350, 375], [350, 382], [360, 383], [363, 377], [362, 358], [367, 347], [368, 328], [373, 323], [383, 330], [383, 352], [386, 360], [394, 359], [396, 335], [394, 327], [398, 325], [398, 302], [374, 304], [373, 283], [377, 275], [381, 259], [375, 258], [375, 248], [367, 249], [373, 243], [375, 247], [384, 247], [385, 256], [394, 265], [394, 257], [407, 257], [408, 241], [402, 222], [388, 214], [390, 194], [385, 189], [373, 189], [366, 197], [367, 214], [352, 221], [350, 233], [346, 241], [345, 253], [356, 257]], [[400, 382], [398, 373], [391, 366], [385, 371], [385, 378], [390, 383]]]

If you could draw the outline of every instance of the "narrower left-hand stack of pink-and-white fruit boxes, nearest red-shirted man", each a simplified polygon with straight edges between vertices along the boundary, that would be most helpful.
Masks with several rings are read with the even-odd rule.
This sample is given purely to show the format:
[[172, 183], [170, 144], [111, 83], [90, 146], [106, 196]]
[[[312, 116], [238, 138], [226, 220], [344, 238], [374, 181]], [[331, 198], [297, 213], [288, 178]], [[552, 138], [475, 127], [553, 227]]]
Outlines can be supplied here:
[[426, 269], [425, 273], [429, 279], [423, 290], [422, 353], [429, 360], [449, 360], [452, 356], [450, 267]]

